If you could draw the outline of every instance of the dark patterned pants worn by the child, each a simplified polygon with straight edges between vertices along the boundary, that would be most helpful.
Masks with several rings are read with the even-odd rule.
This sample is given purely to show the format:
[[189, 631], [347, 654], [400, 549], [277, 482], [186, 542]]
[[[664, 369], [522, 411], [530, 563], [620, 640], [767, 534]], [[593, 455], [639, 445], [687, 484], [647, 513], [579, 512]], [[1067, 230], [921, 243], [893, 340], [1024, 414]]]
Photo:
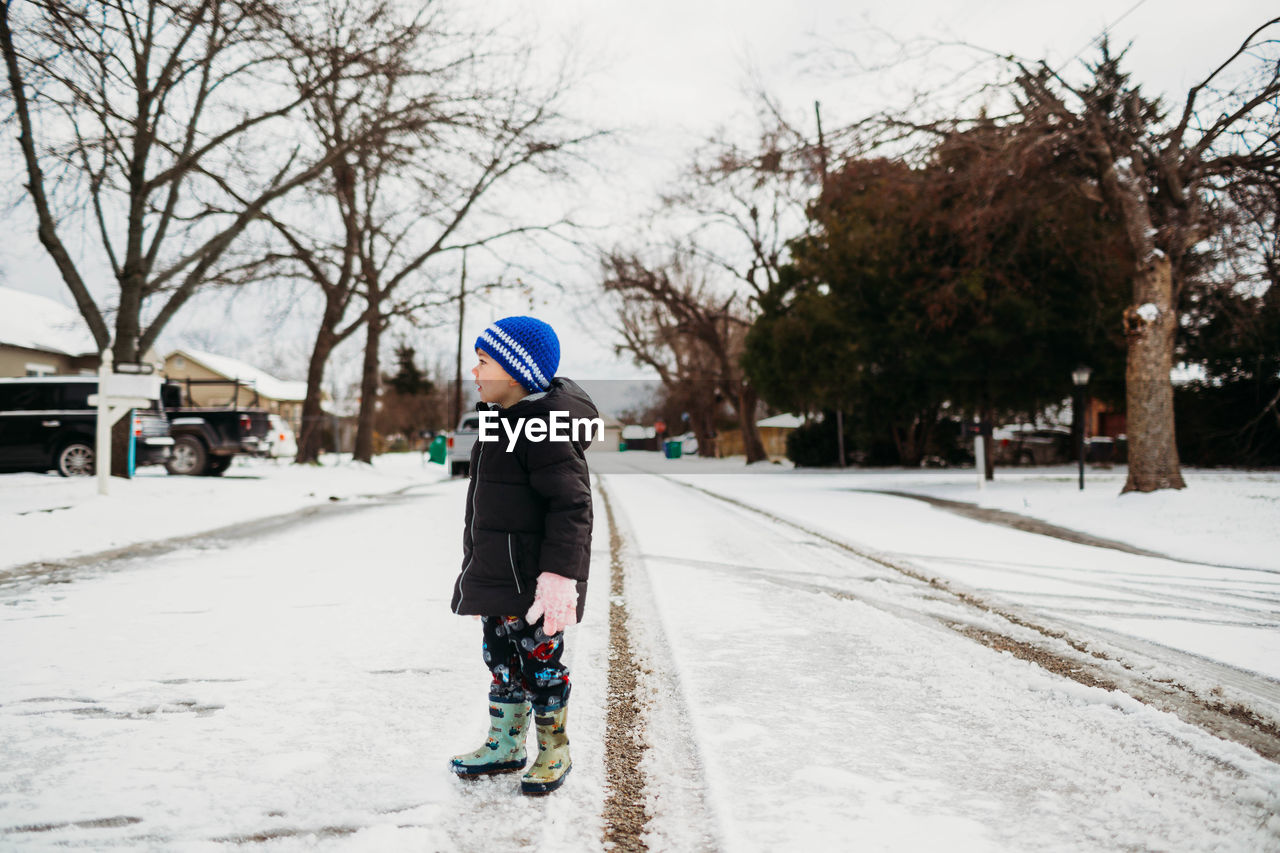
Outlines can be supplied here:
[[548, 637], [541, 621], [529, 625], [520, 616], [484, 616], [484, 662], [493, 674], [489, 698], [527, 699], [535, 712], [549, 713], [568, 702], [568, 669], [559, 658], [564, 633]]

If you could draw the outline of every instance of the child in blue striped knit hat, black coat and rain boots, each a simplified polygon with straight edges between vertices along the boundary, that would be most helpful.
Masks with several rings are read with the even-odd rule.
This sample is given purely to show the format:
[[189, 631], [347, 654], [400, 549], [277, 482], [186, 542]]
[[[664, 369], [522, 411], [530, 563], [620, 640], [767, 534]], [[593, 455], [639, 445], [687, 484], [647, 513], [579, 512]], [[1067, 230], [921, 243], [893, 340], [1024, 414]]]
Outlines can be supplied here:
[[[538, 760], [520, 789], [547, 794], [572, 766], [566, 734], [570, 681], [561, 654], [564, 628], [582, 619], [591, 560], [591, 484], [584, 456], [590, 435], [561, 429], [567, 441], [558, 441], [550, 426], [599, 412], [577, 384], [554, 377], [559, 339], [541, 320], [498, 320], [476, 338], [475, 350], [479, 364], [471, 374], [480, 391], [481, 433], [471, 450], [453, 612], [483, 621], [493, 681], [489, 738], [451, 766], [460, 776], [524, 768], [532, 706]], [[486, 433], [495, 441], [485, 441]]]

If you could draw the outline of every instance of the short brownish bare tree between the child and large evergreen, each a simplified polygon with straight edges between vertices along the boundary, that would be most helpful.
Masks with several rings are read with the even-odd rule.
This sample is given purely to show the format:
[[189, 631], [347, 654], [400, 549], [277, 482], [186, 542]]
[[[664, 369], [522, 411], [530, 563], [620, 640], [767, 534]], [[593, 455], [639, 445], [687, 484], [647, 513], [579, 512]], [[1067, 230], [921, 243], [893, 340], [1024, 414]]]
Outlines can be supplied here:
[[713, 452], [712, 416], [721, 401], [737, 414], [746, 461], [768, 459], [755, 426], [759, 397], [739, 359], [750, 328], [741, 293], [717, 293], [705, 263], [676, 254], [646, 264], [634, 254], [604, 259], [604, 291], [621, 297], [621, 350], [653, 368], [667, 393], [687, 401], [699, 451]]

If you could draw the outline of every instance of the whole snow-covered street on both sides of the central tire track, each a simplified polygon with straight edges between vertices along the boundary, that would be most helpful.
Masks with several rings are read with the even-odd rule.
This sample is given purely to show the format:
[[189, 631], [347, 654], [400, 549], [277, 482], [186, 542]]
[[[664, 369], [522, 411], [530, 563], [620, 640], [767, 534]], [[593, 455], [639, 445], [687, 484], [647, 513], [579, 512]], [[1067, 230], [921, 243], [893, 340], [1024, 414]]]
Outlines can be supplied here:
[[[448, 772], [484, 733], [488, 678], [479, 626], [448, 612], [466, 484], [424, 482], [0, 592], [0, 848], [602, 849], [614, 556], [652, 850], [1280, 848], [1280, 765], [974, 642], [957, 626], [1007, 622], [788, 519], [929, 557], [1016, 608], [1092, 612], [1042, 594], [1091, 576], [1059, 543], [951, 516], [922, 529], [928, 507], [787, 478], [689, 488], [604, 467], [556, 795]], [[1151, 606], [1121, 556], [1092, 557], [1123, 575], [1100, 613]]]

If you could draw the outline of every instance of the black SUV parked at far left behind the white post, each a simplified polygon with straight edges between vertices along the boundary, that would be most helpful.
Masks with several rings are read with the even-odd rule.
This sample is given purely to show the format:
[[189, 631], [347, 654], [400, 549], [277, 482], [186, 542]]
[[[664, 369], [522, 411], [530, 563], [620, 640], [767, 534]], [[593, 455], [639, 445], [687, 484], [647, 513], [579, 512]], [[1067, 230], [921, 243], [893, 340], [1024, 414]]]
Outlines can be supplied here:
[[[0, 470], [93, 473], [97, 377], [0, 379]], [[164, 465], [173, 447], [159, 409], [133, 412], [136, 462]]]

